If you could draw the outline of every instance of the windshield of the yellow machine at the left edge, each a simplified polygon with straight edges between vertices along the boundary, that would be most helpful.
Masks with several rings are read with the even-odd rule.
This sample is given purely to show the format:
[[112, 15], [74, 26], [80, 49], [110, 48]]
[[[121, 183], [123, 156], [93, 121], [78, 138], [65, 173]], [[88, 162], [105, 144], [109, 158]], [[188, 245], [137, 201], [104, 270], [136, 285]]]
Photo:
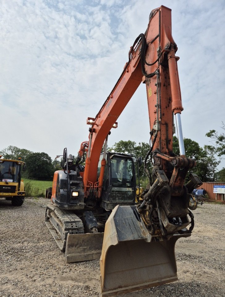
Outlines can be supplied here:
[[17, 162], [3, 161], [0, 163], [0, 181], [18, 182], [19, 168], [20, 165]]

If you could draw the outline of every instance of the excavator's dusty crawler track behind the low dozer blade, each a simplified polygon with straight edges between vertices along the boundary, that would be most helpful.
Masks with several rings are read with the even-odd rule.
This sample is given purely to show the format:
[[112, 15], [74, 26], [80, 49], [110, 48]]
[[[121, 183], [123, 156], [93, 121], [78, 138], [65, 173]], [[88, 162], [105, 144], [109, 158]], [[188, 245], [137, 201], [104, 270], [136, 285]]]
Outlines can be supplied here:
[[45, 225], [62, 252], [66, 250], [68, 234], [84, 234], [82, 220], [73, 212], [48, 204], [45, 211]]

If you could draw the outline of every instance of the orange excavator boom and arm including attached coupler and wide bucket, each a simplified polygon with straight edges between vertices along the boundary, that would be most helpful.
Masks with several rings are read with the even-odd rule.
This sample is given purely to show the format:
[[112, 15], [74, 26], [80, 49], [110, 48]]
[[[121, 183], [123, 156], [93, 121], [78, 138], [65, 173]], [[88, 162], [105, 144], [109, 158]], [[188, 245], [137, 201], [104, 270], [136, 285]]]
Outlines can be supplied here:
[[[175, 243], [180, 237], [190, 236], [194, 227], [193, 214], [188, 209], [189, 198], [194, 187], [202, 182], [197, 175], [190, 174], [185, 184], [188, 171], [196, 162], [185, 157], [176, 51], [171, 10], [160, 6], [151, 11], [146, 32], [140, 34], [130, 48], [129, 61], [121, 77], [92, 119], [88, 155], [92, 175], [88, 174], [88, 178], [96, 180], [96, 156], [104, 138], [138, 85], [146, 84], [151, 146], [144, 170], [149, 186], [142, 194], [141, 204], [118, 205], [106, 222], [100, 258], [103, 296], [177, 280]], [[174, 115], [180, 156], [173, 153]], [[154, 166], [150, 172], [151, 160]], [[87, 185], [86, 181], [84, 184]]]

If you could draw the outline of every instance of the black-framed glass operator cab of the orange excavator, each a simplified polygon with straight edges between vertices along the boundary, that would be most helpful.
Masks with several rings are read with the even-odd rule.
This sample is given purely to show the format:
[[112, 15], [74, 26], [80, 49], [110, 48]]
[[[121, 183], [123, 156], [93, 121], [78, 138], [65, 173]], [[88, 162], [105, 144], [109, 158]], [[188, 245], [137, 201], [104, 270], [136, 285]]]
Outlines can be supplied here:
[[[101, 160], [98, 165], [100, 175]], [[124, 153], [106, 153], [101, 206], [112, 210], [116, 205], [134, 205], [136, 196], [136, 174], [134, 156]]]

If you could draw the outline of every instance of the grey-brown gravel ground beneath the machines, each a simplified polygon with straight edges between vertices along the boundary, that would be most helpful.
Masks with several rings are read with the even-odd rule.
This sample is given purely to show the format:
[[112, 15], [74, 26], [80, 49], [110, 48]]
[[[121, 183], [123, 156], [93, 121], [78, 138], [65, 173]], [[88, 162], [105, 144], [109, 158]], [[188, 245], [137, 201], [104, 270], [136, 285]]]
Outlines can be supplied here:
[[[66, 264], [45, 226], [48, 203], [0, 200], [0, 296], [100, 297], [99, 260]], [[193, 213], [192, 236], [176, 243], [179, 280], [121, 297], [225, 296], [225, 205], [206, 203]]]

